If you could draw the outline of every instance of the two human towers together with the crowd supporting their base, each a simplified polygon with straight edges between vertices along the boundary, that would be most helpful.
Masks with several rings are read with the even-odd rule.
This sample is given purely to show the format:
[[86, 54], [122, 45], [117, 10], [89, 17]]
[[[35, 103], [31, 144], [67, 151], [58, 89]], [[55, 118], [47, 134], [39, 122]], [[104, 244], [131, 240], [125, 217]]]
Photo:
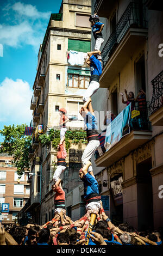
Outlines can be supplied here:
[[57, 169], [54, 172], [52, 190], [54, 195], [54, 218], [40, 225], [28, 224], [26, 227], [0, 228], [0, 245], [161, 245], [161, 233], [139, 234], [128, 224], [116, 227], [106, 216], [98, 190], [98, 183], [93, 174], [91, 157], [99, 146], [97, 119], [92, 108], [91, 96], [99, 88], [99, 77], [102, 74], [101, 51], [103, 43], [102, 29], [104, 24], [99, 17], [90, 16], [92, 32], [96, 40], [94, 51], [87, 53], [85, 62], [90, 66], [91, 77], [89, 87], [83, 96], [83, 106], [79, 113], [84, 118], [87, 146], [82, 155], [82, 168], [79, 177], [84, 184], [85, 215], [80, 220], [72, 221], [66, 215], [65, 192], [62, 189], [61, 173], [66, 169], [66, 123], [72, 119], [67, 117], [65, 108], [60, 108], [60, 143], [57, 153]]

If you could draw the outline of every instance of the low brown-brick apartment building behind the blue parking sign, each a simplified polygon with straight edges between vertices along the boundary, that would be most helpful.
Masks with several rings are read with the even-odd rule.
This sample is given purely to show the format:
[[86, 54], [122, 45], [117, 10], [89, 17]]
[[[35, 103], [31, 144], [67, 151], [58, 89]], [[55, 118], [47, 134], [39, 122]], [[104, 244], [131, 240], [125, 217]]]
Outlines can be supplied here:
[[[11, 160], [12, 156], [6, 153], [0, 154], [0, 220], [5, 226], [17, 223], [18, 212], [26, 204], [30, 194], [28, 173], [25, 172], [18, 180], [17, 169]], [[3, 209], [5, 204], [7, 204], [6, 212]]]

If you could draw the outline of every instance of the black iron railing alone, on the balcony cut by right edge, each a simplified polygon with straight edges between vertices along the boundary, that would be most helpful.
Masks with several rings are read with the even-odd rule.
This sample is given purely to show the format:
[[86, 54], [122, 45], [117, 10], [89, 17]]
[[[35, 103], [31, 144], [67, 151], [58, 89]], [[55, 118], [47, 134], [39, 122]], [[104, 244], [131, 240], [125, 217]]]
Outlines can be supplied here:
[[153, 94], [149, 104], [149, 114], [153, 114], [156, 110], [163, 106], [163, 70], [152, 81]]

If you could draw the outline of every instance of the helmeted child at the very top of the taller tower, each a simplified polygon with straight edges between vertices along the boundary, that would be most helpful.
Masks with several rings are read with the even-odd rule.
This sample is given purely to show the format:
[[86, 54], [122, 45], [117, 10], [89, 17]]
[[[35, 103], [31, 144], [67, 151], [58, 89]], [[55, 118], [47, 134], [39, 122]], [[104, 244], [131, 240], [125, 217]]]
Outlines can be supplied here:
[[[102, 35], [104, 23], [99, 21], [99, 17], [97, 14], [91, 15], [89, 21], [91, 22], [93, 36], [96, 41], [94, 51], [98, 51], [100, 50], [101, 45], [104, 42], [103, 35]], [[101, 59], [101, 54], [97, 54], [97, 58]]]

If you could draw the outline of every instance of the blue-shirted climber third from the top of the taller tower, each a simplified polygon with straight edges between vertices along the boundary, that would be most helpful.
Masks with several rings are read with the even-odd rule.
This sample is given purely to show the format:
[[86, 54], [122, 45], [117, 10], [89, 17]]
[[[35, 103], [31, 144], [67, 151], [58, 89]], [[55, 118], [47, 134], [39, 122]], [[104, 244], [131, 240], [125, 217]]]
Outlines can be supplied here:
[[[86, 130], [86, 137], [88, 142], [82, 155], [82, 166], [84, 166], [87, 161], [91, 159], [93, 153], [96, 151], [100, 144], [97, 132], [97, 119], [92, 108], [91, 98], [89, 98], [89, 100], [84, 103], [79, 113], [84, 118], [84, 130]], [[92, 166], [89, 167], [88, 172], [95, 178], [93, 175]]]

